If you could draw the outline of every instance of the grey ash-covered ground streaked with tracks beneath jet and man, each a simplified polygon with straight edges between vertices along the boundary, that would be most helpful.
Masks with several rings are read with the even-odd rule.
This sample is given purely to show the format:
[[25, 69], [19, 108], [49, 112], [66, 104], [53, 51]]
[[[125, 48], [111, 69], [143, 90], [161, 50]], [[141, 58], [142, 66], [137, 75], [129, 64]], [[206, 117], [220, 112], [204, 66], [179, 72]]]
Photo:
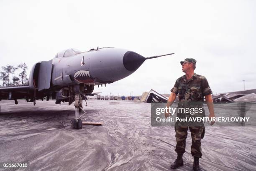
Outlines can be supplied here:
[[[170, 170], [176, 159], [174, 127], [151, 127], [151, 104], [87, 100], [82, 120], [104, 124], [75, 130], [73, 104], [24, 101], [0, 101], [0, 170], [3, 163], [28, 164], [19, 170]], [[188, 132], [177, 171], [192, 170], [190, 146]], [[207, 171], [255, 170], [256, 127], [206, 127], [202, 154]]]

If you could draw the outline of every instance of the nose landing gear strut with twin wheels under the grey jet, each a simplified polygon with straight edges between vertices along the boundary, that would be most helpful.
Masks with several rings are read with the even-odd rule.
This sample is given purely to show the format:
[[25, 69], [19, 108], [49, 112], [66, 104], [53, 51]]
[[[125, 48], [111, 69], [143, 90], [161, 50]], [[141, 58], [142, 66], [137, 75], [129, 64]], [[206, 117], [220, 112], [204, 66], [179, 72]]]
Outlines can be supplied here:
[[79, 112], [82, 111], [82, 107], [83, 107], [82, 104], [83, 104], [82, 95], [79, 93], [76, 93], [75, 94], [75, 104], [74, 104], [75, 118], [70, 121], [70, 126], [72, 129], [82, 129], [83, 124], [82, 124], [82, 120], [80, 119], [80, 117], [86, 113], [84, 111], [84, 114], [82, 114], [79, 117]]

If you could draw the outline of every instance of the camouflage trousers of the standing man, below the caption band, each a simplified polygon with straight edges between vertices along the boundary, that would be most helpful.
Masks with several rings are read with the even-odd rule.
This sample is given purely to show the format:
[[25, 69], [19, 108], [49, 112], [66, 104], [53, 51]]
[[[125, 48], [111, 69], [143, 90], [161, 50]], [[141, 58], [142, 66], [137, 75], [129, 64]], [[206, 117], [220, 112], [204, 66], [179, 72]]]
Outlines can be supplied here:
[[202, 157], [201, 139], [203, 138], [204, 129], [203, 126], [175, 126], [176, 137], [176, 149], [178, 154], [183, 154], [186, 149], [187, 130], [191, 132], [192, 146], [191, 154], [193, 156]]

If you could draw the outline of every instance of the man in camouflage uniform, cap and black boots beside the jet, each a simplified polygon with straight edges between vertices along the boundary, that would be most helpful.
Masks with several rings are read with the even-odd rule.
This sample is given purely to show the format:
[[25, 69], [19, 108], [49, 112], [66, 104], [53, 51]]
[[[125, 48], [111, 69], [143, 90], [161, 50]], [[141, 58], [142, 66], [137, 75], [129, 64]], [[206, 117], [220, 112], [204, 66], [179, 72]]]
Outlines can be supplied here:
[[[197, 106], [199, 105], [202, 107], [202, 102], [205, 97], [210, 112], [208, 117], [212, 118], [215, 117], [211, 96], [212, 91], [209, 87], [207, 79], [204, 76], [194, 73], [196, 62], [197, 61], [193, 58], [186, 58], [184, 61], [180, 62], [182, 65], [182, 72], [185, 72], [185, 75], [178, 78], [174, 84], [174, 87], [171, 89], [172, 93], [168, 99], [167, 107], [169, 108], [172, 105], [177, 95], [179, 97], [178, 107], [181, 107], [182, 103], [184, 102], [194, 102], [197, 104]], [[178, 114], [179, 113], [177, 113], [177, 116], [179, 116]], [[201, 116], [204, 117], [204, 115], [205, 113], [203, 111]], [[165, 117], [169, 117], [169, 113], [165, 113]], [[183, 166], [182, 155], [185, 152], [187, 130], [189, 129], [192, 137], [191, 154], [194, 156], [193, 170], [198, 171], [200, 170], [199, 158], [202, 157], [201, 139], [204, 136], [205, 127], [203, 124], [200, 126], [180, 126], [179, 124], [180, 123], [176, 122], [175, 125], [175, 137], [177, 141], [175, 151], [177, 152], [177, 159], [171, 165], [171, 169], [177, 169], [179, 166]], [[213, 124], [214, 121], [211, 122], [211, 125]]]

